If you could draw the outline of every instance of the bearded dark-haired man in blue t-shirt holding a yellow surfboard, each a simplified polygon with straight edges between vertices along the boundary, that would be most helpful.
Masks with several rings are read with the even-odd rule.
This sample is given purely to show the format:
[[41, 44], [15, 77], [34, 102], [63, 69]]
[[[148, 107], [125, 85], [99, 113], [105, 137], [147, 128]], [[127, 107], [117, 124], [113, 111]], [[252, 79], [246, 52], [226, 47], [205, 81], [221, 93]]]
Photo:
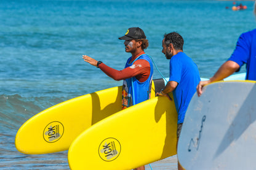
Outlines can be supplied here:
[[[166, 87], [160, 93], [156, 93], [158, 96], [169, 97], [167, 94], [173, 92], [178, 113], [177, 138], [180, 136], [188, 104], [200, 82], [198, 66], [183, 53], [183, 44], [183, 38], [178, 33], [172, 32], [164, 35], [162, 53], [170, 60], [170, 79]], [[178, 169], [182, 169], [179, 163]]]

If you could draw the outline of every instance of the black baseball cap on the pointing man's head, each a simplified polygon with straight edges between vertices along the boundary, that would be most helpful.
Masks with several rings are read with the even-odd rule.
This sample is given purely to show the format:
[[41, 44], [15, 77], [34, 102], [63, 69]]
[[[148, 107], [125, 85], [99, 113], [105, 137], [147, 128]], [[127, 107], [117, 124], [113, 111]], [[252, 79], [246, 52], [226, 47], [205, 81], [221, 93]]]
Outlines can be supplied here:
[[138, 27], [129, 28], [126, 34], [118, 39], [131, 40], [131, 39], [146, 39], [144, 31]]

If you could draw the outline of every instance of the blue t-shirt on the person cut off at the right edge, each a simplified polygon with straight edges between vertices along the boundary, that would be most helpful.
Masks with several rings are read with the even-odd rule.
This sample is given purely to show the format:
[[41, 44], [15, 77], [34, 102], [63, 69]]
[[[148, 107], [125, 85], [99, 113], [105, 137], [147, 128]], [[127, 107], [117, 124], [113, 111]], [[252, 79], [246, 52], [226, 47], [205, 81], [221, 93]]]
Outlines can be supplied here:
[[238, 63], [240, 67], [246, 64], [246, 80], [256, 80], [256, 29], [241, 34], [228, 60]]

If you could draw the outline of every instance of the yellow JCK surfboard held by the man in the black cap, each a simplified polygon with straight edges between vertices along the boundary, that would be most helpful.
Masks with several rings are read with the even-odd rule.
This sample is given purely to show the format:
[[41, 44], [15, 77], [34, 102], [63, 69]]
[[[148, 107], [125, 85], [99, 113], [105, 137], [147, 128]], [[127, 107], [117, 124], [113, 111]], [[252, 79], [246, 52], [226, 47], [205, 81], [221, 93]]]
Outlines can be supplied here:
[[[154, 98], [155, 90], [163, 87], [163, 79], [153, 80], [151, 98]], [[121, 102], [122, 87], [113, 87], [52, 106], [20, 127], [15, 146], [19, 152], [26, 154], [68, 150], [82, 131], [119, 112]]]

